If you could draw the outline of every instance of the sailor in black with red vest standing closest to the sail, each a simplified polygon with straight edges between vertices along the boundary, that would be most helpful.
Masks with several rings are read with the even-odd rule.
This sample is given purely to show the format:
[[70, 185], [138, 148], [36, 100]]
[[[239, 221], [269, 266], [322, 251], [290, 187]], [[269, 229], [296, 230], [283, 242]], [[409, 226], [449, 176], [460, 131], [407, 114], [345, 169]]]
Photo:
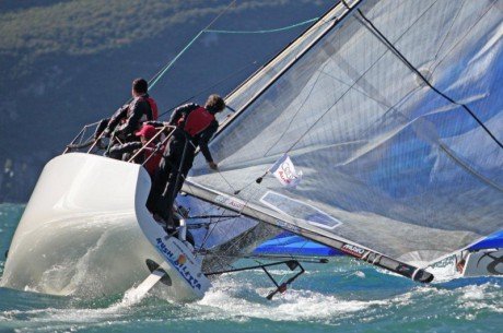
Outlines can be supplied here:
[[169, 226], [173, 226], [173, 202], [192, 167], [196, 148], [199, 146], [210, 168], [218, 168], [208, 148], [208, 142], [219, 128], [214, 115], [224, 108], [222, 97], [211, 95], [204, 107], [194, 103], [186, 104], [172, 114], [169, 124], [176, 126], [176, 129], [166, 143], [147, 201], [147, 207], [154, 217], [162, 218]]

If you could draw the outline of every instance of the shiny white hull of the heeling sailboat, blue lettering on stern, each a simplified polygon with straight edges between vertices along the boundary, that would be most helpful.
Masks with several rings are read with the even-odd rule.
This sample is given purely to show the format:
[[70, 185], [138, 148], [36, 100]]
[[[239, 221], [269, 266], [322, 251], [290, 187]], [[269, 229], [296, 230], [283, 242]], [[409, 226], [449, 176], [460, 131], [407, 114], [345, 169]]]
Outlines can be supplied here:
[[[162, 264], [169, 298], [201, 298], [200, 261], [169, 238], [144, 204], [150, 177], [139, 165], [96, 155], [58, 156], [44, 168], [9, 250], [4, 287], [95, 297], [124, 293]], [[180, 258], [180, 254], [182, 255]]]

